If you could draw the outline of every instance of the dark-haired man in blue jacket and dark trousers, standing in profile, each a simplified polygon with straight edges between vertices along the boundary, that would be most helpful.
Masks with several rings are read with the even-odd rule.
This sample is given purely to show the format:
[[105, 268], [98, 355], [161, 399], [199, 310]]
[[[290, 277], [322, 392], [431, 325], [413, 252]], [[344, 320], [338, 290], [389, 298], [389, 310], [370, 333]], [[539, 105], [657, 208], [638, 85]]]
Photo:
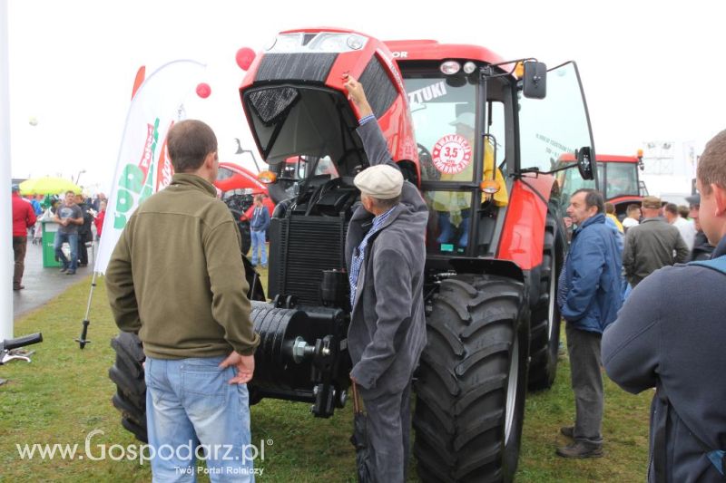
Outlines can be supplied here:
[[605, 223], [603, 195], [579, 189], [567, 208], [577, 229], [564, 264], [560, 310], [566, 321], [567, 351], [574, 391], [574, 426], [561, 432], [574, 442], [557, 449], [564, 458], [603, 456], [603, 376], [600, 340], [620, 309], [621, 253], [613, 230]]

